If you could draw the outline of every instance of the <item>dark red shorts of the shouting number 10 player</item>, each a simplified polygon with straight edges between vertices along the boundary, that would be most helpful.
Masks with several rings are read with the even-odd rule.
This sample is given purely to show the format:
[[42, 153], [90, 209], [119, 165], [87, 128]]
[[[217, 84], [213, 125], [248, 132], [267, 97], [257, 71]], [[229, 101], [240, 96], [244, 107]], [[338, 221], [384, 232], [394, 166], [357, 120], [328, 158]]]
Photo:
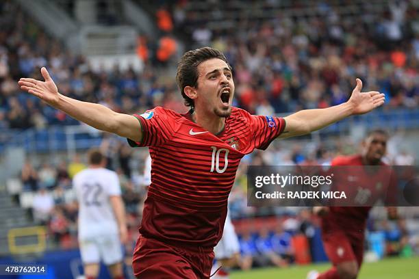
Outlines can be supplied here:
[[132, 268], [136, 278], [210, 278], [214, 252], [198, 246], [175, 247], [156, 239], [138, 237]]

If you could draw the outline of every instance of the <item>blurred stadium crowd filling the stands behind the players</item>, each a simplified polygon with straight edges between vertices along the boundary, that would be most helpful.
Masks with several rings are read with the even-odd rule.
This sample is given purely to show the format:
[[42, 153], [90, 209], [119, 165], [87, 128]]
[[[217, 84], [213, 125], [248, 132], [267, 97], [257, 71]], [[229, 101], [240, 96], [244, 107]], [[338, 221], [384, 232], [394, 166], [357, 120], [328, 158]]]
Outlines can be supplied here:
[[[238, 9], [235, 6], [227, 4], [220, 9], [221, 1], [207, 0], [201, 3], [206, 7], [203, 12], [184, 10], [187, 2], [170, 1], [160, 8], [165, 19], [160, 24], [157, 14], [161, 35], [181, 34], [179, 37], [186, 45], [211, 45], [223, 51], [234, 69], [235, 105], [253, 114], [338, 105], [347, 100], [355, 77], [364, 81], [365, 90], [386, 94], [388, 103], [384, 110], [418, 107], [419, 7], [414, 1], [391, 1], [391, 8], [372, 13], [368, 12], [368, 3], [356, 2], [359, 5], [356, 18], [325, 1], [316, 1], [314, 7], [308, 8], [314, 8], [317, 16], [284, 15], [257, 21], [236, 18], [231, 26], [204, 23], [210, 17], [227, 21], [229, 11]], [[246, 4], [251, 9], [255, 2]], [[275, 8], [275, 1], [263, 3], [266, 11]], [[299, 7], [295, 8], [307, 8], [304, 3], [296, 1]], [[20, 77], [40, 79], [41, 66], [49, 68], [60, 93], [72, 98], [101, 103], [127, 114], [159, 105], [186, 111], [174, 77], [164, 76], [161, 70], [174, 64], [175, 57], [160, 59], [158, 53], [153, 54], [155, 47], [147, 38], [142, 38], [139, 45], [139, 55], [144, 59], [142, 72], [121, 71], [118, 67], [110, 72], [94, 72], [84, 57], [74, 55], [50, 38], [13, 1], [1, 1], [0, 25], [0, 131], [79, 124], [18, 89], [16, 80]], [[132, 167], [131, 161], [138, 157], [133, 157], [126, 142], [114, 137], [105, 136], [101, 148], [108, 167], [120, 177], [129, 232], [135, 241], [147, 193], [147, 185], [138, 175], [142, 170]], [[242, 220], [276, 215], [286, 221], [271, 226], [270, 230], [239, 230], [242, 268], [289, 265], [294, 261], [291, 237], [302, 233], [310, 239], [318, 226], [306, 210], [246, 207], [246, 165], [321, 165], [335, 155], [356, 151], [356, 143], [348, 139], [332, 141], [327, 148], [320, 144], [308, 149], [301, 144], [283, 148], [278, 142], [269, 152], [244, 157], [231, 192], [231, 217]], [[396, 165], [414, 165], [414, 160], [407, 152], [388, 157], [388, 162]], [[21, 171], [23, 191], [34, 193], [31, 204], [34, 220], [48, 226], [61, 248], [77, 245], [77, 204], [71, 179], [86, 168], [83, 161], [85, 158], [78, 156], [55, 165], [51, 161], [36, 165], [27, 161]], [[408, 247], [419, 252], [419, 246], [415, 246], [418, 239], [409, 239], [414, 233], [407, 231], [403, 221], [391, 224], [377, 221], [370, 225], [370, 230], [384, 233], [388, 243], [386, 254], [407, 253]], [[391, 246], [392, 243], [399, 243], [398, 247]]]

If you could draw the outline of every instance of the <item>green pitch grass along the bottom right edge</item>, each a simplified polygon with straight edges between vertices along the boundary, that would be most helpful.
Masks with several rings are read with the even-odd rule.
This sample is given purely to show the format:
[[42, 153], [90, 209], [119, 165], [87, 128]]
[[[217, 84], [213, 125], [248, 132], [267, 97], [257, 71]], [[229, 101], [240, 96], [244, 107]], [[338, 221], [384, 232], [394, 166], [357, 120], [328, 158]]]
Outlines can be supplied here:
[[[310, 270], [325, 271], [331, 265], [297, 265], [288, 269], [275, 267], [233, 271], [231, 279], [305, 279]], [[413, 279], [419, 278], [419, 258], [386, 258], [377, 263], [364, 263], [358, 279]]]

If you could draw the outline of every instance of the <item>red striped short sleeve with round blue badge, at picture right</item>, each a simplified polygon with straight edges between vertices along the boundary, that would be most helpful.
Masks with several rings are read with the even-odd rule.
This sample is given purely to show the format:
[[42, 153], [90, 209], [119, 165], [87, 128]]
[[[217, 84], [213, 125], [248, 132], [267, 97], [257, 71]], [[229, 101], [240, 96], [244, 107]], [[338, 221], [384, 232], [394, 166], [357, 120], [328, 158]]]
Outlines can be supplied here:
[[253, 131], [252, 144], [262, 150], [285, 129], [285, 120], [275, 116], [250, 116], [249, 122]]

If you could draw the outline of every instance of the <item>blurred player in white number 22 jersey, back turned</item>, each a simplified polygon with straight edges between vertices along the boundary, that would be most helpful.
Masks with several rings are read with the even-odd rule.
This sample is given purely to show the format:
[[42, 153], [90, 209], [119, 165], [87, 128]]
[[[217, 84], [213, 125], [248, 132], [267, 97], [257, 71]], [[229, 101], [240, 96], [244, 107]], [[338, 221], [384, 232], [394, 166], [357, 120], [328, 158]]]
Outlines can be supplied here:
[[97, 278], [101, 260], [112, 278], [123, 277], [121, 243], [127, 241], [125, 209], [116, 172], [107, 170], [99, 150], [90, 150], [89, 168], [73, 186], [79, 201], [79, 246], [86, 279]]

